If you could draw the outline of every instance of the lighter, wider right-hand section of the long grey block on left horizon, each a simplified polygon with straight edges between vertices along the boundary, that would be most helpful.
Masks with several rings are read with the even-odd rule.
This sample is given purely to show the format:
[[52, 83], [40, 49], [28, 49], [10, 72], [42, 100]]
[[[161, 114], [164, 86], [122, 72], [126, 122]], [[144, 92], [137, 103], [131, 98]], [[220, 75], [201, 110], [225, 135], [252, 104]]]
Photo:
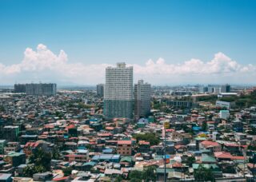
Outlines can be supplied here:
[[38, 84], [26, 84], [27, 95], [56, 95], [57, 85], [54, 83], [38, 83]]

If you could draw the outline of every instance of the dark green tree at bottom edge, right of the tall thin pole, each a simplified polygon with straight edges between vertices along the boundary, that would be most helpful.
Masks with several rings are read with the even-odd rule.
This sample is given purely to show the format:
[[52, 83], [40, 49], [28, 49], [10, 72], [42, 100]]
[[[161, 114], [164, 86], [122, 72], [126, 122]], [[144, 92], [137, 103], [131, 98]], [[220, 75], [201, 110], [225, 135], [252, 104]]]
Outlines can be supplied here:
[[211, 168], [205, 168], [200, 164], [194, 171], [194, 179], [196, 181], [214, 181], [214, 174]]

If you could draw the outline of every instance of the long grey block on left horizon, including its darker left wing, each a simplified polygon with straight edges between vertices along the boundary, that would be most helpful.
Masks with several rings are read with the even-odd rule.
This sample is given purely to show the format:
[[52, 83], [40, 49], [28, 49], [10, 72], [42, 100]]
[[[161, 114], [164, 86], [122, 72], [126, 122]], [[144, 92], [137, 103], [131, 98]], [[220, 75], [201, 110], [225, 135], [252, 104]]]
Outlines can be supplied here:
[[56, 95], [57, 85], [54, 83], [38, 83], [38, 84], [15, 84], [15, 93], [26, 93], [27, 95]]

